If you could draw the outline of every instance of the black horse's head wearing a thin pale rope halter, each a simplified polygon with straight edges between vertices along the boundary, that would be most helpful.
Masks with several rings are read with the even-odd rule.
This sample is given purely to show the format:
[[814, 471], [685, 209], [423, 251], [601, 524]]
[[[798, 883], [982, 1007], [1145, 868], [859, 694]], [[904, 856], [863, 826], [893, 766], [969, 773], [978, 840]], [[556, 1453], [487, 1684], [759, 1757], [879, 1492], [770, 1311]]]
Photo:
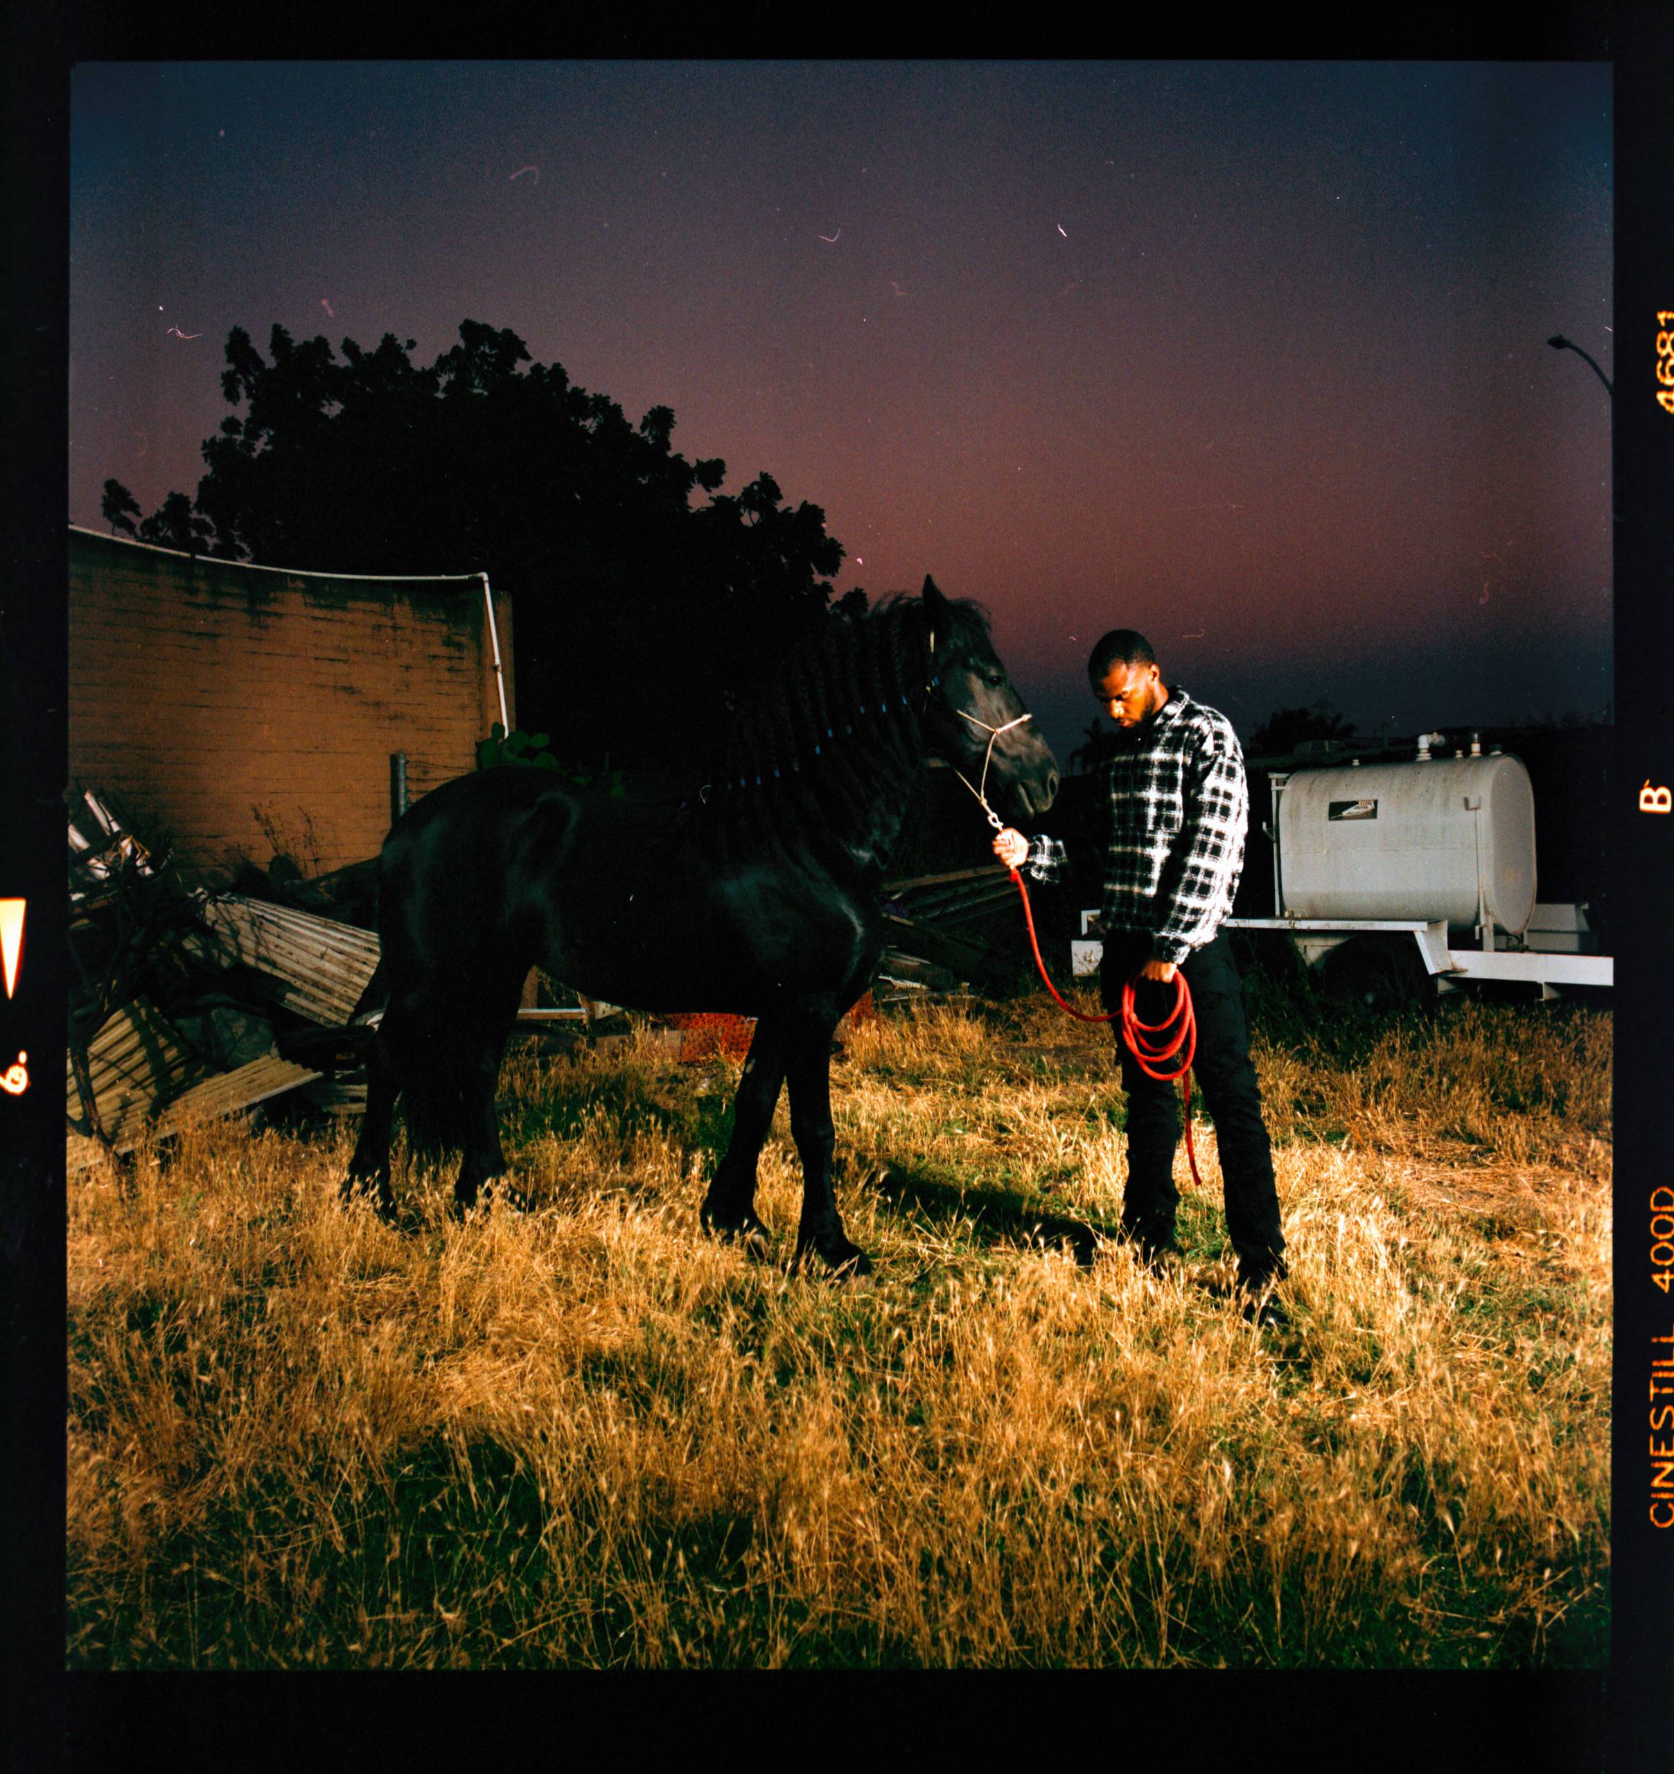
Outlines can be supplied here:
[[924, 736], [931, 750], [979, 788], [995, 812], [1014, 820], [1043, 814], [1059, 791], [1059, 766], [1005, 676], [982, 614], [943, 598], [926, 575], [924, 628], [931, 683]]

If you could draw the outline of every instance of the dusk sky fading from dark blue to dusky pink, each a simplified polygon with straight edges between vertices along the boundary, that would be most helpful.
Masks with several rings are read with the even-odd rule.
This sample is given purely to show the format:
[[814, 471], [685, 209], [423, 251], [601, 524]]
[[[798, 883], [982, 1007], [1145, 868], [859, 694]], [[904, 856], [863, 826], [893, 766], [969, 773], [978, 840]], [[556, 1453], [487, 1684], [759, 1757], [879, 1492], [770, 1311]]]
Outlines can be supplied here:
[[83, 64], [67, 518], [232, 326], [472, 318], [981, 598], [1060, 761], [1112, 626], [1247, 740], [1596, 715], [1610, 144], [1587, 62]]

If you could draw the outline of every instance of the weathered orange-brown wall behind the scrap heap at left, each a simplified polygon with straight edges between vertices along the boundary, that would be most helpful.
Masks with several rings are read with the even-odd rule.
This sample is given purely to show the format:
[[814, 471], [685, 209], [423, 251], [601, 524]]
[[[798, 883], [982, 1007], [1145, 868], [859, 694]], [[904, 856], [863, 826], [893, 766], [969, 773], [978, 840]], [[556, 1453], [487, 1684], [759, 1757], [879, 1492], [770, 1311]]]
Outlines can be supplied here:
[[[507, 710], [511, 607], [495, 596]], [[355, 580], [69, 534], [69, 770], [206, 871], [372, 855], [500, 718], [481, 578]]]

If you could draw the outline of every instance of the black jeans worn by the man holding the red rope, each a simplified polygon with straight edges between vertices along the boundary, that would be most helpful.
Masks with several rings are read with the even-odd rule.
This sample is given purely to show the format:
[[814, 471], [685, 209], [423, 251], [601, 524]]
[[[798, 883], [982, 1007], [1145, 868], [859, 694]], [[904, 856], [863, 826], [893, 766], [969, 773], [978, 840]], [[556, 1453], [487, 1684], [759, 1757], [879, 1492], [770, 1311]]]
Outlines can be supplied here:
[[[1135, 977], [1151, 954], [1142, 933], [1112, 931], [1105, 937], [1099, 993], [1105, 1009], [1119, 1009], [1123, 985]], [[1250, 1031], [1243, 1017], [1238, 969], [1227, 933], [1193, 949], [1181, 972], [1192, 988], [1197, 1017], [1193, 1089], [1202, 1095], [1220, 1146], [1220, 1174], [1227, 1201], [1227, 1235], [1238, 1252], [1238, 1276], [1247, 1286], [1284, 1276], [1284, 1233], [1279, 1229], [1279, 1192], [1273, 1187], [1273, 1150], [1261, 1119], [1261, 1086], [1250, 1064]], [[1133, 1011], [1140, 1022], [1162, 1022], [1174, 1008], [1174, 983], [1140, 979]], [[1158, 1084], [1140, 1071], [1121, 1032], [1115, 1034], [1128, 1093], [1128, 1194], [1123, 1229], [1144, 1247], [1174, 1238], [1174, 1150], [1179, 1142], [1179, 1086]], [[1151, 1041], [1154, 1043], [1154, 1036]], [[1172, 1071], [1179, 1054], [1156, 1070]]]

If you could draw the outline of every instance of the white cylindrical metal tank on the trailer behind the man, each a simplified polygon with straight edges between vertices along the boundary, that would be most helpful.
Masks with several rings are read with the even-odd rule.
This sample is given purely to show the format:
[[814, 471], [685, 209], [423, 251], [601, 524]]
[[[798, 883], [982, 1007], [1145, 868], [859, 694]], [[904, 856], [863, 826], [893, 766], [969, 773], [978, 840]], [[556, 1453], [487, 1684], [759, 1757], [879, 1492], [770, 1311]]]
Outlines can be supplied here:
[[1490, 919], [1534, 912], [1534, 791], [1516, 757], [1298, 770], [1279, 795], [1280, 912]]

